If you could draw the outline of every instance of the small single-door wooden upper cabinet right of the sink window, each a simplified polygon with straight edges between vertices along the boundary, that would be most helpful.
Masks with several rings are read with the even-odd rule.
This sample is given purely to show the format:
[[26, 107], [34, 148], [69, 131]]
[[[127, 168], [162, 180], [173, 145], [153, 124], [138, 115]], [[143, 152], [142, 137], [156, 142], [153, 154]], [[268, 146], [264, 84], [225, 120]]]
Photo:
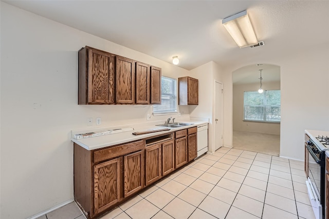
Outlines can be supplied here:
[[198, 79], [179, 77], [178, 92], [179, 105], [198, 105]]

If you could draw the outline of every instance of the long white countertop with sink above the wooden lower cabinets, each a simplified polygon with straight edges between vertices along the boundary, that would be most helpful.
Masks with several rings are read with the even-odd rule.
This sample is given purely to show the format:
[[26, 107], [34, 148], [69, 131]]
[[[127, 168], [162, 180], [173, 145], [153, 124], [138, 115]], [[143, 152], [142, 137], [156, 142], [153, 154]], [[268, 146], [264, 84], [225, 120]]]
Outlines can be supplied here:
[[[159, 134], [166, 134], [170, 133], [173, 131], [178, 131], [181, 129], [187, 129], [191, 128], [194, 126], [198, 125], [203, 125], [203, 124], [208, 124], [208, 121], [205, 120], [187, 120], [187, 121], [179, 121], [180, 123], [186, 122], [186, 123], [192, 123], [193, 125], [189, 126], [183, 126], [179, 128], [169, 128], [170, 130], [167, 131], [160, 131], [160, 132], [153, 132], [153, 133], [148, 133], [148, 134], [140, 134], [140, 135], [133, 135], [133, 132], [137, 131], [146, 131], [149, 129], [156, 129], [156, 128], [167, 128], [164, 126], [156, 126], [157, 124], [163, 124], [162, 122], [151, 122], [151, 123], [144, 123], [140, 125], [127, 125], [126, 127], [133, 127], [134, 131], [129, 131], [129, 132], [121, 132], [121, 133], [116, 133], [116, 134], [108, 134], [108, 135], [102, 135], [102, 136], [97, 136], [97, 137], [88, 137], [88, 138], [83, 138], [83, 139], [75, 139], [74, 137], [71, 138], [71, 141], [74, 143], [77, 143], [81, 147], [87, 149], [87, 150], [95, 150], [95, 149], [100, 149], [103, 147], [108, 147], [108, 146], [113, 146], [113, 145], [118, 145], [118, 144], [123, 144], [126, 142], [132, 142], [132, 141], [137, 141], [142, 138], [147, 138], [147, 137], [152, 137], [155, 135]], [[99, 129], [99, 128], [98, 128]], [[107, 128], [102, 128], [102, 129], [111, 129], [110, 127]], [[81, 132], [82, 130], [79, 131], [72, 131], [72, 136], [76, 133], [84, 133]], [[91, 130], [88, 130], [88, 132]]]

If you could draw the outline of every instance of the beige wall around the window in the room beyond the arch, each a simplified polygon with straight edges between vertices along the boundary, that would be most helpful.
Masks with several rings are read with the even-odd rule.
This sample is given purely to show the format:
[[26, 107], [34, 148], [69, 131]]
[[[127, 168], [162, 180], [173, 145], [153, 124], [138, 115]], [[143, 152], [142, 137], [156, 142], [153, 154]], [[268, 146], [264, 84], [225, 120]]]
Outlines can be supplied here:
[[[280, 82], [264, 82], [265, 90], [280, 90]], [[278, 123], [244, 122], [244, 92], [257, 91], [259, 83], [233, 84], [233, 130], [280, 134]], [[234, 147], [234, 145], [233, 145]]]

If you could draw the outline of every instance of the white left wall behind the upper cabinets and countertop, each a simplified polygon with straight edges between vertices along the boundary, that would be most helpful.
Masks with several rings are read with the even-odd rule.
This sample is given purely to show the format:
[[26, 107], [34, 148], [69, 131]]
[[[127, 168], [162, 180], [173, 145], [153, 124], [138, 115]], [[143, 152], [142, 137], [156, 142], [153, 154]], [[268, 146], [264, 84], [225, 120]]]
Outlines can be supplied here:
[[[86, 45], [158, 66], [164, 76], [189, 72], [1, 2], [3, 219], [26, 218], [72, 200], [70, 130], [90, 128], [87, 117], [101, 117], [104, 127], [146, 122], [150, 106], [77, 104], [78, 50]], [[189, 115], [189, 107], [179, 110]]]

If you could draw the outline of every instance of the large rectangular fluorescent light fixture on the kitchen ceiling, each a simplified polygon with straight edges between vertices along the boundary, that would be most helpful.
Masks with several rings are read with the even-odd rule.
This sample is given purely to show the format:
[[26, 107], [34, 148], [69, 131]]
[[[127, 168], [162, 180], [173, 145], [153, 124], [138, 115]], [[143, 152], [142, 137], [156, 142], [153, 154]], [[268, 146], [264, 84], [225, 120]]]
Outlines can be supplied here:
[[246, 10], [224, 18], [222, 24], [240, 48], [258, 44]]

